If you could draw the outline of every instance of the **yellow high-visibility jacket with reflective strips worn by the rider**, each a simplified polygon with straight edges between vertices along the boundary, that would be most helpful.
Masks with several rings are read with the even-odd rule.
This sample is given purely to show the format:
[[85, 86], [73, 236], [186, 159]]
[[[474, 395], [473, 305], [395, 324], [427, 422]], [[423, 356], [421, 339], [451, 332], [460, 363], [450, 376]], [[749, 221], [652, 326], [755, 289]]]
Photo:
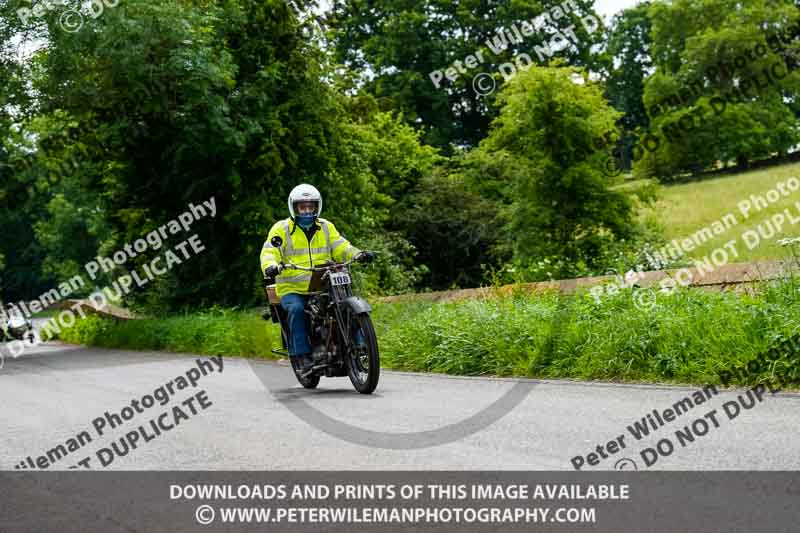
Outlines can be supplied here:
[[[267, 241], [261, 249], [261, 273], [271, 265], [294, 263], [297, 266], [321, 266], [325, 261], [333, 259], [343, 263], [355, 257], [361, 250], [342, 237], [336, 227], [318, 218], [315, 222], [317, 231], [308, 242], [303, 228], [297, 226], [291, 218], [276, 222], [269, 230]], [[272, 239], [279, 236], [283, 240], [280, 248], [272, 245]], [[311, 272], [287, 268], [275, 278], [275, 291], [279, 298], [290, 293], [308, 294]]]

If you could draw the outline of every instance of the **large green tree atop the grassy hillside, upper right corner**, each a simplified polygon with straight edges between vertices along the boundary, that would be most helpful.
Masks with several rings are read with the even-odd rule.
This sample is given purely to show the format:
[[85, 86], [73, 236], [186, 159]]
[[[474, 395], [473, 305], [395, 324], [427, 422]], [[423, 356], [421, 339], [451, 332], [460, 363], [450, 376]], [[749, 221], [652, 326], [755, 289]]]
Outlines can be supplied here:
[[659, 0], [649, 13], [656, 72], [644, 102], [666, 146], [645, 155], [639, 175], [669, 178], [732, 160], [745, 168], [800, 140], [800, 74], [765, 77], [765, 69], [785, 73], [796, 65], [796, 40], [776, 41], [792, 41], [782, 34], [800, 28], [794, 2]]

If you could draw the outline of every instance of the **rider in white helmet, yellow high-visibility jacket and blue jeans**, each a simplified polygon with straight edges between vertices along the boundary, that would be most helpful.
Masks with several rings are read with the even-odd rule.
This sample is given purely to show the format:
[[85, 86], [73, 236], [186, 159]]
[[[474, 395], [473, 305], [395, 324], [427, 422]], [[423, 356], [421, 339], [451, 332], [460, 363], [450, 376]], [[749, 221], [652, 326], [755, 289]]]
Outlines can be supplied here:
[[303, 183], [292, 189], [288, 205], [289, 218], [272, 226], [261, 250], [261, 272], [265, 278], [275, 280], [281, 307], [288, 315], [289, 354], [299, 358], [300, 369], [306, 371], [314, 365], [305, 313], [311, 273], [290, 268], [281, 270], [279, 264], [311, 267], [329, 260], [342, 263], [350, 259], [366, 263], [372, 261], [375, 254], [359, 250], [342, 237], [331, 222], [320, 218], [322, 195], [314, 186]]

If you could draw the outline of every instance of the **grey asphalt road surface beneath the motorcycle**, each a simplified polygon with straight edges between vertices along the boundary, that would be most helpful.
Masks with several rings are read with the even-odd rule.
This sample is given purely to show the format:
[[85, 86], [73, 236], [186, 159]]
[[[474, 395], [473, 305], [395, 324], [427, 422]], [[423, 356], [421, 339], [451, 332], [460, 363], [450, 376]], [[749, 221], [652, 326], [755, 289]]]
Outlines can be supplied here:
[[[376, 393], [363, 396], [347, 378], [323, 378], [319, 389], [302, 389], [283, 362], [225, 358], [220, 372], [201, 357], [208, 373], [202, 375], [198, 358], [57, 343], [6, 357], [0, 469], [29, 456], [35, 463], [59, 444], [68, 449], [82, 432], [91, 441], [74, 441], [77, 449], [61, 457], [51, 453], [47, 468], [66, 469], [88, 457], [84, 464], [92, 468], [125, 470], [571, 470], [571, 460], [582, 456], [583, 470], [632, 468], [627, 459], [645, 470], [641, 450], [664, 438], [662, 450], [668, 444], [674, 450], [649, 469], [794, 470], [800, 464], [796, 394], [767, 392], [729, 419], [724, 404], [737, 402], [737, 394], [745, 403], [748, 398], [744, 390], [720, 391], [636, 440], [628, 426], [654, 409], [665, 416], [698, 389], [384, 371]], [[198, 375], [196, 387], [178, 390], [176, 378], [190, 372]], [[106, 411], [124, 414], [132, 400], [143, 401], [168, 382], [173, 390], [162, 396], [163, 406], [139, 404], [141, 413], [113, 429], [106, 422], [99, 434], [94, 424]], [[175, 414], [176, 406], [184, 416]], [[154, 426], [170, 429], [155, 435]], [[686, 426], [694, 442], [687, 441]], [[676, 430], [684, 431], [682, 440]], [[126, 450], [125, 435], [137, 431], [136, 448]], [[625, 448], [608, 445], [620, 436]]]

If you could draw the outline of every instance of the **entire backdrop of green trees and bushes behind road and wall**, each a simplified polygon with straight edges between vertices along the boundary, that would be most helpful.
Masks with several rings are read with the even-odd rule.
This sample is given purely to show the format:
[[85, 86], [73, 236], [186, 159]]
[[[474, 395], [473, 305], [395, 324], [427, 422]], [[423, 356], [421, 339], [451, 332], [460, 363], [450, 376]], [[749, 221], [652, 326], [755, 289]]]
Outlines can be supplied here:
[[[788, 0], [656, 0], [617, 17], [602, 49], [603, 32], [579, 20], [593, 2], [576, 3], [580, 13], [497, 53], [487, 41], [498, 31], [564, 2], [337, 0], [323, 16], [306, 0], [126, 0], [76, 32], [59, 25], [67, 6], [24, 22], [19, 2], [0, 5], [0, 296], [36, 297], [213, 196], [217, 217], [192, 229], [205, 251], [122, 303], [155, 314], [263, 303], [257, 258], [300, 182], [322, 191], [324, 216], [356, 246], [382, 252], [356, 275], [364, 294], [636, 264], [660, 237], [634, 218], [634, 197], [647, 195], [603, 175], [617, 127], [630, 151], [631, 130], [660, 131], [744, 74], [792, 64], [798, 43], [710, 80], [688, 107], [645, 113], [761, 43], [762, 27], [798, 16]], [[317, 18], [326, 36], [308, 33]], [[490, 97], [474, 93], [477, 68], [438, 89], [429, 78], [476, 52], [496, 72], [570, 25], [578, 41], [561, 61]], [[15, 46], [29, 37], [21, 59]], [[795, 73], [730, 103], [637, 174], [785, 155], [798, 141], [799, 83]]]

